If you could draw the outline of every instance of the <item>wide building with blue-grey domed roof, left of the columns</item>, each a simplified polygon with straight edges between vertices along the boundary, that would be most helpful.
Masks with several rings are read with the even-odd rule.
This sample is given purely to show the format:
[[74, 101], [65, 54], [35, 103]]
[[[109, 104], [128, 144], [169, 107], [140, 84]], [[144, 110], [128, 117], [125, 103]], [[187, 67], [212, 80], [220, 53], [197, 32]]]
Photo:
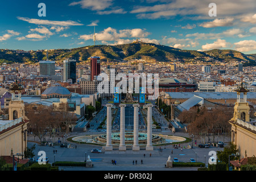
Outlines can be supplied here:
[[70, 98], [71, 92], [67, 88], [60, 86], [60, 84], [55, 84], [42, 93], [42, 98]]

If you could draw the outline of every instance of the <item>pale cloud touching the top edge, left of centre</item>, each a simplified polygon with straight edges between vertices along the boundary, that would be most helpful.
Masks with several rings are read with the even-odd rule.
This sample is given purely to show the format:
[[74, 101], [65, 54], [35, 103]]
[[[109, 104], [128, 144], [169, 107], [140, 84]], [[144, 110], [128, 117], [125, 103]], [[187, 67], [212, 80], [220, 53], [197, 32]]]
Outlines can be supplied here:
[[69, 6], [75, 5], [81, 5], [82, 9], [105, 10], [112, 5], [112, 0], [81, 0], [69, 4]]

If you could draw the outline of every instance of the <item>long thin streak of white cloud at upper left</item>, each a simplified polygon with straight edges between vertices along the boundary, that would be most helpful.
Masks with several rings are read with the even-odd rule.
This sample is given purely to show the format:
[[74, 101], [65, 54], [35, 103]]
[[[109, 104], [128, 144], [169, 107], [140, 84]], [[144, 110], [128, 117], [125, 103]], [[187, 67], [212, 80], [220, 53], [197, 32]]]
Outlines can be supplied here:
[[23, 20], [28, 23], [32, 24], [45, 24], [51, 26], [82, 26], [83, 24], [74, 22], [72, 20], [67, 21], [52, 21], [52, 20], [44, 20], [44, 19], [30, 19], [24, 17], [17, 17], [19, 20]]

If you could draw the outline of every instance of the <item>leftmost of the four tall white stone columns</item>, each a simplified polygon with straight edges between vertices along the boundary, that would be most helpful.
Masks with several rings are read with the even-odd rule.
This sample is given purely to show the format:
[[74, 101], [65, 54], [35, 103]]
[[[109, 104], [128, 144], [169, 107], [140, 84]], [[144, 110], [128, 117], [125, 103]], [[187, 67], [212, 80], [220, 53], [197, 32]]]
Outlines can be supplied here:
[[113, 150], [112, 146], [112, 104], [106, 104], [107, 107], [107, 140], [105, 150]]

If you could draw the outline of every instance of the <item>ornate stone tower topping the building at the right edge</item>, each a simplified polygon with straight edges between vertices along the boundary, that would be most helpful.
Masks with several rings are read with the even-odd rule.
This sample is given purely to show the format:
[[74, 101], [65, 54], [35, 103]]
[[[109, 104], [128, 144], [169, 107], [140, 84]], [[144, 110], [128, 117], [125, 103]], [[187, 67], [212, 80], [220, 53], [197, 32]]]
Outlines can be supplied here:
[[232, 120], [236, 121], [237, 119], [241, 119], [242, 121], [249, 122], [250, 107], [247, 103], [247, 92], [249, 92], [249, 90], [245, 89], [243, 83], [241, 83], [241, 86], [238, 86], [235, 91], [237, 92], [237, 102], [234, 106], [234, 116]]

